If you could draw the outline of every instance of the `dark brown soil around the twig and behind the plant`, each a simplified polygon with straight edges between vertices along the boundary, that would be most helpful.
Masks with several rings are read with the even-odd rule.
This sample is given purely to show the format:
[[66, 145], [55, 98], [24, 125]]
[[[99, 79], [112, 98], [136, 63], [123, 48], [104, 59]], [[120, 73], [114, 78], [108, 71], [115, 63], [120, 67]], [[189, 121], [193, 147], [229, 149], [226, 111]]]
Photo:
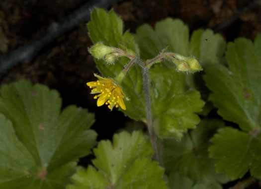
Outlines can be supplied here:
[[[0, 56], [26, 44], [58, 21], [83, 5], [86, 0], [0, 0]], [[125, 29], [135, 32], [143, 24], [154, 24], [166, 17], [180, 18], [190, 31], [211, 28], [220, 32], [227, 41], [237, 37], [254, 39], [261, 33], [261, 7], [250, 6], [253, 0], [120, 0], [112, 4], [125, 22]], [[250, 7], [249, 7], [250, 6]], [[230, 23], [225, 24], [232, 16]], [[57, 89], [63, 106], [76, 104], [95, 113], [92, 126], [98, 140], [111, 139], [118, 128], [133, 122], [123, 113], [107, 107], [96, 107], [89, 94], [87, 81], [98, 72], [87, 52], [91, 41], [86, 23], [60, 36], [33, 60], [19, 64], [0, 80], [10, 83], [21, 78], [43, 83]], [[104, 122], [105, 121], [105, 122]], [[83, 162], [85, 164], [85, 162]]]

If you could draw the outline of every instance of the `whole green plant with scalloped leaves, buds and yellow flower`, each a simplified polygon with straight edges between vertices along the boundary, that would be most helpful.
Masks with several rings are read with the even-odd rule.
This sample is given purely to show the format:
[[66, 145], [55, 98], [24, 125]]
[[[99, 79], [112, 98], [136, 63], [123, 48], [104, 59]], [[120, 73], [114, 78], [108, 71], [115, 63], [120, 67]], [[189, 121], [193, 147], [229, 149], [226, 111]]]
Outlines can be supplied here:
[[189, 38], [171, 18], [123, 33], [115, 12], [101, 8], [87, 27], [102, 74], [87, 82], [97, 106], [143, 122], [148, 135], [133, 125], [100, 141], [85, 169], [76, 160], [95, 145], [93, 115], [75, 106], [60, 114], [57, 92], [43, 85], [3, 85], [0, 188], [222, 189], [261, 178], [261, 35], [226, 50], [219, 34]]

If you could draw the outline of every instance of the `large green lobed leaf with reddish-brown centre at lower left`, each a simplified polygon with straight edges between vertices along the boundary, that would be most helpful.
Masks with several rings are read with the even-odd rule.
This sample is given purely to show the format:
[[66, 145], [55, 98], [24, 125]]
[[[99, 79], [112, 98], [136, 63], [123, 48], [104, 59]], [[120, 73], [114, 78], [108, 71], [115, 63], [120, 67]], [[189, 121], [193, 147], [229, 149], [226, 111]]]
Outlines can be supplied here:
[[19, 179], [28, 188], [63, 189], [75, 172], [75, 161], [95, 145], [96, 133], [88, 129], [94, 116], [75, 106], [60, 113], [57, 91], [41, 84], [32, 86], [26, 80], [2, 85], [0, 91], [0, 112], [15, 129], [14, 133], [10, 122], [6, 122], [9, 130], [0, 126], [4, 129], [0, 133], [10, 133], [9, 138], [1, 137], [0, 175], [5, 176], [0, 177], [0, 188], [10, 185], [8, 189], [16, 189], [13, 183]]

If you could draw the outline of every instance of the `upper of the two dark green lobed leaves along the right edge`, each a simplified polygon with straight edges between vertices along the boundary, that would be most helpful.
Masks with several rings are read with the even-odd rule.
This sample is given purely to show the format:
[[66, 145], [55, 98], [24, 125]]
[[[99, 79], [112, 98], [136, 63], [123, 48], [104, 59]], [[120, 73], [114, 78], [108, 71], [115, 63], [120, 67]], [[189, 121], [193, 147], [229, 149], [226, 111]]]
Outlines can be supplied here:
[[230, 69], [211, 66], [204, 76], [218, 114], [247, 131], [261, 128], [260, 39], [261, 35], [254, 44], [244, 38], [229, 43], [226, 56]]

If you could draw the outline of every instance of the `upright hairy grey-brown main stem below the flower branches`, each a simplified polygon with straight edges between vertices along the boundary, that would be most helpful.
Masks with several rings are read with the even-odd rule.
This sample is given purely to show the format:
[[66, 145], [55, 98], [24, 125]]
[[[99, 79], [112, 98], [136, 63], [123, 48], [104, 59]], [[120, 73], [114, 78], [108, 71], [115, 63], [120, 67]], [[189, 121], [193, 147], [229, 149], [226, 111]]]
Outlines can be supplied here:
[[144, 67], [143, 68], [143, 90], [144, 90], [144, 97], [145, 97], [145, 103], [147, 108], [147, 126], [148, 131], [151, 138], [151, 144], [155, 151], [155, 160], [160, 162], [159, 159], [159, 151], [158, 151], [158, 145], [157, 145], [157, 138], [154, 133], [153, 129], [153, 123], [152, 123], [152, 111], [151, 111], [151, 98], [150, 98], [150, 77], [149, 77], [149, 68]]

